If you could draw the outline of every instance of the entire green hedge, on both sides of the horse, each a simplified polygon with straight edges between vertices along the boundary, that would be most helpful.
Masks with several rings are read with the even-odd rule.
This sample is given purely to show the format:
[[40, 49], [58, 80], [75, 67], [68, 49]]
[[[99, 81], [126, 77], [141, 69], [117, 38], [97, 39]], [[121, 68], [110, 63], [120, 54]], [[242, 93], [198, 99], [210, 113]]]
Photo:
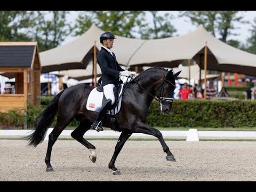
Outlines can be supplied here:
[[[0, 128], [34, 127], [39, 113], [53, 99], [42, 98], [40, 107], [28, 106], [25, 115], [17, 111], [0, 113]], [[44, 105], [43, 105], [44, 104]], [[52, 127], [55, 126], [57, 116]], [[77, 127], [78, 121], [73, 120], [68, 126]], [[174, 100], [172, 110], [162, 115], [158, 103], [154, 100], [148, 111], [147, 124], [153, 127], [256, 127], [256, 102], [251, 100]]]

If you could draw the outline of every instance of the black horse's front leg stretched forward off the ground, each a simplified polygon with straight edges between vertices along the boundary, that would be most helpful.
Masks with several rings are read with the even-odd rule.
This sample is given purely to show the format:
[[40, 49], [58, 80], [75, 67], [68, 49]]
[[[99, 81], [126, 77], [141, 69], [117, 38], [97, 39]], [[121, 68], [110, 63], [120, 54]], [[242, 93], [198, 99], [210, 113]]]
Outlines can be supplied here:
[[134, 129], [134, 133], [145, 133], [145, 134], [155, 136], [160, 141], [164, 152], [167, 154], [167, 156], [166, 156], [167, 161], [176, 161], [176, 159], [174, 158], [173, 154], [171, 153], [169, 147], [166, 145], [166, 143], [163, 139], [162, 133], [159, 130], [157, 130], [153, 127], [150, 127], [142, 122], [139, 122], [137, 124], [137, 127]]

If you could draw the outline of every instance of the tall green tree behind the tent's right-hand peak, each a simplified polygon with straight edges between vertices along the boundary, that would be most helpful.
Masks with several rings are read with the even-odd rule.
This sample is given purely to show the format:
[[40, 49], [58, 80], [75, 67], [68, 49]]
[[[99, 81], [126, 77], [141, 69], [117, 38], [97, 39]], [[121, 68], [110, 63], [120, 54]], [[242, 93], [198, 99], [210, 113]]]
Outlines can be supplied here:
[[193, 24], [203, 25], [214, 37], [219, 36], [222, 42], [239, 47], [239, 42], [228, 39], [234, 33], [235, 23], [247, 23], [243, 20], [244, 11], [181, 11], [180, 17], [188, 17]]

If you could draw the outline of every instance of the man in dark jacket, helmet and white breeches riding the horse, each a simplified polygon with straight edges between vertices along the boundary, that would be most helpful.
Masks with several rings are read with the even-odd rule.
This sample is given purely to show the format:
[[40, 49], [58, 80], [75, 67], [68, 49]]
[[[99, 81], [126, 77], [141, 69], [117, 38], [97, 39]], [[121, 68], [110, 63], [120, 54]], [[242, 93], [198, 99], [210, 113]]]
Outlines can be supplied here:
[[102, 120], [107, 110], [115, 103], [113, 89], [119, 83], [119, 75], [129, 77], [131, 74], [134, 74], [134, 72], [124, 70], [119, 66], [115, 54], [110, 50], [113, 47], [114, 39], [115, 35], [110, 31], [106, 31], [100, 36], [100, 43], [103, 46], [98, 52], [97, 60], [102, 73], [103, 92], [107, 101], [103, 103], [98, 116], [91, 125], [91, 129], [97, 131], [103, 131], [101, 127]]

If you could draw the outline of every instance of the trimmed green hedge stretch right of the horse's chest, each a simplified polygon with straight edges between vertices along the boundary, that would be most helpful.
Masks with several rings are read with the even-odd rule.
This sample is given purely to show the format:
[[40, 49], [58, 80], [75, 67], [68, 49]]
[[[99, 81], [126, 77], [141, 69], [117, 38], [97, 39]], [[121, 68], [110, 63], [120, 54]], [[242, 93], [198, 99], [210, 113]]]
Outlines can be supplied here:
[[251, 100], [174, 100], [172, 110], [162, 115], [151, 103], [148, 124], [161, 127], [255, 127], [256, 102]]

